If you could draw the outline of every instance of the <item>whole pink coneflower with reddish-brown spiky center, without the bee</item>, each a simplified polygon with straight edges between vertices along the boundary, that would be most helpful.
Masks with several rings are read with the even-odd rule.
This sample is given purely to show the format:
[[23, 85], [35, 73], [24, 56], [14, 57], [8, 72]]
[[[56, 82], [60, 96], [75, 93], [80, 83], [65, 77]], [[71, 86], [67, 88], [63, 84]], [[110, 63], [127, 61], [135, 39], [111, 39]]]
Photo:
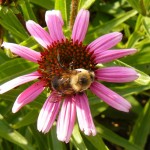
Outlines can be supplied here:
[[[81, 131], [86, 135], [94, 136], [96, 134], [88, 98], [85, 93], [86, 90], [91, 90], [111, 107], [128, 112], [131, 108], [130, 103], [99, 81], [124, 83], [138, 78], [137, 72], [128, 67], [98, 68], [96, 66], [99, 63], [107, 63], [123, 56], [134, 54], [136, 50], [110, 49], [121, 41], [122, 34], [119, 32], [103, 35], [89, 45], [83, 45], [89, 24], [89, 16], [88, 10], [82, 9], [79, 11], [73, 26], [71, 39], [67, 39], [63, 34], [62, 27], [64, 23], [58, 10], [46, 12], [45, 20], [49, 33], [34, 21], [27, 21], [27, 30], [43, 47], [41, 52], [36, 52], [18, 44], [7, 42], [2, 44], [4, 48], [10, 49], [16, 55], [39, 64], [39, 67], [35, 72], [19, 76], [2, 84], [0, 94], [24, 83], [38, 80], [17, 97], [12, 112], [17, 112], [24, 105], [33, 101], [45, 88], [48, 88], [50, 96], [40, 111], [37, 128], [39, 131], [47, 133], [59, 113], [57, 137], [66, 143], [69, 142], [76, 115]], [[68, 70], [92, 71], [94, 74], [92, 82], [80, 92], [63, 95], [61, 91], [57, 91], [56, 88], [52, 87], [52, 79], [61, 77]], [[57, 84], [55, 86], [58, 86]]]

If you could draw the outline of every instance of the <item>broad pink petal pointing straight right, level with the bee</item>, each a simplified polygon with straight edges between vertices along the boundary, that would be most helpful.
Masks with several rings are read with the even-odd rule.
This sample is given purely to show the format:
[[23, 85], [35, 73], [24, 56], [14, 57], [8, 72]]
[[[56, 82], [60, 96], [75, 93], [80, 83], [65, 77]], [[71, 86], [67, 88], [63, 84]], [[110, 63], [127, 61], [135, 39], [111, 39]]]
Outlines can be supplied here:
[[134, 69], [128, 67], [107, 67], [97, 69], [95, 71], [95, 76], [99, 80], [116, 83], [131, 82], [139, 77]]

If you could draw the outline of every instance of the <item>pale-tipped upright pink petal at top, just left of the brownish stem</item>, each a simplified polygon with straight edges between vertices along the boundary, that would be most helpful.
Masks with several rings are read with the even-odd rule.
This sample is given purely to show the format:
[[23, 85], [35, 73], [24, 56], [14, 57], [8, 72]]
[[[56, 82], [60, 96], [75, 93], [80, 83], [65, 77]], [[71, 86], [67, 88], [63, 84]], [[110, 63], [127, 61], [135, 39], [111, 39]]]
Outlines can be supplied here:
[[62, 26], [63, 19], [58, 10], [46, 11], [45, 20], [53, 41], [65, 40]]

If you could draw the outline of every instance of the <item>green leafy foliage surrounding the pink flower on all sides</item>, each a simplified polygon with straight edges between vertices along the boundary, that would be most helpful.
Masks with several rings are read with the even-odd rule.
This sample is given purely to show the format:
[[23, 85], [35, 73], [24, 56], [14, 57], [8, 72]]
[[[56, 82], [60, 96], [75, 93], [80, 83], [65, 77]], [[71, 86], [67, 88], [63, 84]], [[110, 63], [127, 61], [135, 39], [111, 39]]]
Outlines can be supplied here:
[[[20, 43], [40, 51], [30, 37], [25, 21], [34, 20], [46, 27], [46, 10], [59, 9], [65, 21], [64, 32], [70, 36], [69, 15], [71, 0], [0, 0], [0, 43]], [[71, 141], [59, 142], [55, 124], [48, 134], [39, 133], [36, 120], [46, 93], [12, 114], [17, 95], [29, 84], [0, 95], [0, 150], [149, 150], [150, 149], [150, 1], [149, 0], [79, 0], [79, 8], [89, 9], [91, 18], [85, 44], [112, 32], [124, 37], [117, 48], [138, 49], [138, 53], [116, 60], [106, 66], [132, 66], [141, 74], [128, 84], [106, 85], [124, 96], [132, 104], [130, 113], [108, 107], [89, 93], [89, 102], [98, 134], [85, 136], [75, 125]], [[8, 50], [0, 49], [0, 84], [14, 77], [30, 73], [36, 65]]]

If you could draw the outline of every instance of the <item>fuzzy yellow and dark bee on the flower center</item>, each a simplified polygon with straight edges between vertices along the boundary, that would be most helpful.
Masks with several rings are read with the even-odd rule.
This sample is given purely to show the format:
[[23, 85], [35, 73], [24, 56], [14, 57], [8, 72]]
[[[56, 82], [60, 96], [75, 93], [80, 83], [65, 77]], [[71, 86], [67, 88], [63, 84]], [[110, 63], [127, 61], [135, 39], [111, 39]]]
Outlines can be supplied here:
[[62, 96], [82, 93], [94, 81], [93, 71], [86, 69], [68, 70], [61, 75], [54, 76], [51, 80], [52, 88]]

